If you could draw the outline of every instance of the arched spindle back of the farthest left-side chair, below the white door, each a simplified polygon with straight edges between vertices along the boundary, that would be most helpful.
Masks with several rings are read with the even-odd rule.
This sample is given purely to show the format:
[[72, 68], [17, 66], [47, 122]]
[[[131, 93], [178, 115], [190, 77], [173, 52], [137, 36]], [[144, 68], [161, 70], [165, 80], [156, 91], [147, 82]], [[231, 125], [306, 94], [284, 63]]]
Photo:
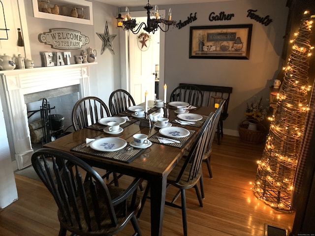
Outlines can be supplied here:
[[124, 89], [117, 89], [109, 96], [108, 106], [112, 116], [126, 111], [128, 107], [135, 105], [131, 94]]

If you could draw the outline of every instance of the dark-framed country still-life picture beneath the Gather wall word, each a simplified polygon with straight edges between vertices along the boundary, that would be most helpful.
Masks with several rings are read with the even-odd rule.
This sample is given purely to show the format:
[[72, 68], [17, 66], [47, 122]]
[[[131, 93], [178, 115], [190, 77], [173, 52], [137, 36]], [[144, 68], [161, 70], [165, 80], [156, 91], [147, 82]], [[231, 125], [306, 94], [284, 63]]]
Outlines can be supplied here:
[[190, 27], [189, 58], [249, 59], [252, 25]]

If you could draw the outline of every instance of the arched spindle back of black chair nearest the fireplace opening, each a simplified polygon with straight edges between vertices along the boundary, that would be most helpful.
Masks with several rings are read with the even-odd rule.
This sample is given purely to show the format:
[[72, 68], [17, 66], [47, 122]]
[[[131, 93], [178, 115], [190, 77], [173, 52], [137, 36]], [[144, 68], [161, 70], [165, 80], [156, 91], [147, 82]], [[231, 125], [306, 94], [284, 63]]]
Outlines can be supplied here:
[[107, 105], [98, 97], [88, 96], [78, 100], [72, 109], [72, 125], [75, 131], [110, 117]]

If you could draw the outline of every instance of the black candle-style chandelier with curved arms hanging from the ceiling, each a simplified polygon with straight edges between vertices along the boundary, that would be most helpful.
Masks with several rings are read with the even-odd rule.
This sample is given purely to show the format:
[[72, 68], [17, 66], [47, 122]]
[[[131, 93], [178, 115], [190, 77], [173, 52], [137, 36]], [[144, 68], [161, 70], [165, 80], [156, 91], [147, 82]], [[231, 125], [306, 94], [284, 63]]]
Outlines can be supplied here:
[[[126, 7], [126, 20], [124, 21], [124, 18], [122, 18], [121, 13], [119, 13], [117, 19], [117, 26], [122, 27], [124, 30], [130, 30], [132, 33], [137, 34], [140, 29], [143, 29], [147, 31], [148, 33], [152, 32], [155, 33], [158, 29], [161, 29], [163, 32], [166, 32], [170, 26], [176, 26], [176, 21], [172, 21], [172, 10], [169, 8], [168, 11], [168, 20], [163, 19], [158, 14], [158, 6], [155, 6], [155, 14], [150, 12], [150, 10], [153, 8], [153, 6], [150, 5], [149, 0], [148, 4], [144, 6], [144, 8], [147, 10], [147, 23], [141, 22], [139, 25], [136, 23], [136, 19], [131, 19], [129, 14], [129, 9]], [[163, 29], [163, 27], [160, 26], [160, 24], [163, 24], [164, 26], [167, 26], [166, 29]]]

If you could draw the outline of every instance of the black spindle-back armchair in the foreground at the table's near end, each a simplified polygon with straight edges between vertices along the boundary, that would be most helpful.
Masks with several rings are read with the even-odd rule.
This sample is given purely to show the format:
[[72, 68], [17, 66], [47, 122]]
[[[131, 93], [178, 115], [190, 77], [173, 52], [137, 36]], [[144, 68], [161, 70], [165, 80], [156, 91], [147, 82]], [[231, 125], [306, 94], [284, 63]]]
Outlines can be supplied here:
[[127, 189], [107, 185], [99, 174], [80, 158], [52, 148], [38, 149], [32, 166], [53, 195], [58, 206], [59, 236], [112, 236], [131, 221], [141, 236], [135, 214], [141, 206], [135, 178]]

